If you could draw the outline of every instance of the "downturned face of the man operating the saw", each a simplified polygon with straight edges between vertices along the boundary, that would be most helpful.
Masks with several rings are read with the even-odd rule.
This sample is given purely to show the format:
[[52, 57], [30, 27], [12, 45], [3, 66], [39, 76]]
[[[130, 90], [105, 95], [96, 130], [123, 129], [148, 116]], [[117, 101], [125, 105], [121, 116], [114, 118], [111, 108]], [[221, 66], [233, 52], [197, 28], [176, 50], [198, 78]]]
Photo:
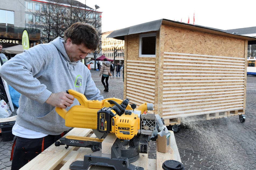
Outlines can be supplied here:
[[67, 39], [65, 50], [71, 61], [82, 60], [88, 54], [92, 53], [92, 50], [88, 49], [83, 44], [80, 44], [80, 45], [73, 44], [70, 38]]

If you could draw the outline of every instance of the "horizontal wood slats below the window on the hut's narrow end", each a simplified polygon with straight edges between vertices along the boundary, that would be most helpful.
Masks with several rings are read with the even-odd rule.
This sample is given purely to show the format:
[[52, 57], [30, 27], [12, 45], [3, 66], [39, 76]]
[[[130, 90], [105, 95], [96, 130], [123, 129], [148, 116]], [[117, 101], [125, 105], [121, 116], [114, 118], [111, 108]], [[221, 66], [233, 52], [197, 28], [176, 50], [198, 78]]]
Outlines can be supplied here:
[[[127, 60], [126, 97], [130, 103], [155, 103], [155, 61]], [[153, 113], [153, 111], [149, 111]]]

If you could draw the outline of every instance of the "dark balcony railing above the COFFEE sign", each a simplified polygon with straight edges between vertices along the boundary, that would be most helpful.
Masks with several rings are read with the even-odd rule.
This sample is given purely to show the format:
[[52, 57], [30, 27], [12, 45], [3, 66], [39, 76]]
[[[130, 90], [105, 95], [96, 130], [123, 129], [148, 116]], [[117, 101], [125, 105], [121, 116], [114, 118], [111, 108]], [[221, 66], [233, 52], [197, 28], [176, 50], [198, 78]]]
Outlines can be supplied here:
[[[22, 32], [25, 27], [16, 27], [13, 25], [0, 24], [0, 37], [10, 39], [22, 39]], [[40, 29], [38, 28], [26, 28], [29, 34], [29, 40], [40, 40]]]

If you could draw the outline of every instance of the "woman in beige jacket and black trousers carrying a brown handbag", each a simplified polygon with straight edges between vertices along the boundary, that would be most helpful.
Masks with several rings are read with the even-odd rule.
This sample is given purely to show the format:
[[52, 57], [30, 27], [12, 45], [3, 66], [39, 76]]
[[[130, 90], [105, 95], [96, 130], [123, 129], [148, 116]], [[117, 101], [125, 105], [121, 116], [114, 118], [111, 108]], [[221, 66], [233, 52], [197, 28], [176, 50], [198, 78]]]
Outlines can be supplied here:
[[[103, 84], [104, 86], [104, 91], [108, 92], [108, 78], [109, 76], [111, 76], [111, 73], [110, 73], [110, 62], [107, 61], [106, 58], [104, 58], [103, 60], [103, 63], [101, 65], [101, 68], [100, 68], [100, 75], [102, 74], [102, 77], [101, 77], [101, 83]], [[104, 79], [106, 79], [106, 84], [104, 83]]]

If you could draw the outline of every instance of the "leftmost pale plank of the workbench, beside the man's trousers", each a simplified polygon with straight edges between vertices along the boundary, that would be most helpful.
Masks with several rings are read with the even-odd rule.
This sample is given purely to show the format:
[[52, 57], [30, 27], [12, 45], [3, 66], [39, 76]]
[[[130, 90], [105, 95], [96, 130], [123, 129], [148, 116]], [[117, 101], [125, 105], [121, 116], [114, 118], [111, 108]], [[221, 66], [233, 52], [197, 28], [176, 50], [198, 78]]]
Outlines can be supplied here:
[[[91, 129], [73, 128], [68, 134], [87, 136], [91, 131]], [[75, 149], [74, 146], [65, 149], [64, 146], [56, 147], [53, 144], [32, 159], [28, 164], [24, 165], [21, 170], [34, 170], [35, 167], [36, 169], [45, 169], [45, 167], [47, 167], [47, 169], [54, 169], [73, 149]]]

